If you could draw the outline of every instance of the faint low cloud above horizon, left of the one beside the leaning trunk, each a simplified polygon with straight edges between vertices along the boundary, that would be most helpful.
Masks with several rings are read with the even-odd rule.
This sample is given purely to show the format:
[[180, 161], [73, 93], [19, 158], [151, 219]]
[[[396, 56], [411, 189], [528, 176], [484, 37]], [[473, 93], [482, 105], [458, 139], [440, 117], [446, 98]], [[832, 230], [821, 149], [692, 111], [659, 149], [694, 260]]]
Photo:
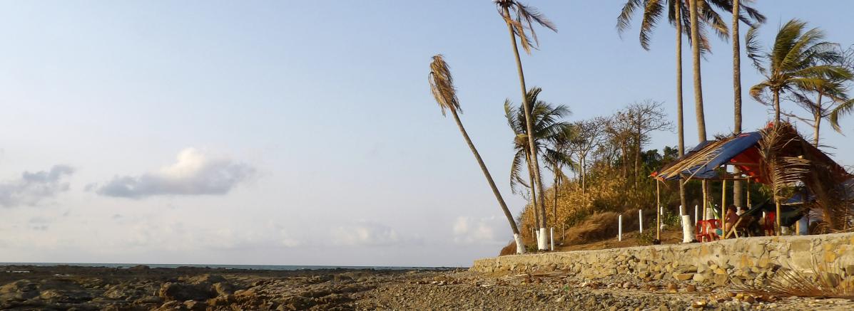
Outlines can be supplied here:
[[408, 239], [389, 226], [378, 222], [360, 221], [332, 229], [332, 244], [348, 246], [389, 246], [418, 243]]

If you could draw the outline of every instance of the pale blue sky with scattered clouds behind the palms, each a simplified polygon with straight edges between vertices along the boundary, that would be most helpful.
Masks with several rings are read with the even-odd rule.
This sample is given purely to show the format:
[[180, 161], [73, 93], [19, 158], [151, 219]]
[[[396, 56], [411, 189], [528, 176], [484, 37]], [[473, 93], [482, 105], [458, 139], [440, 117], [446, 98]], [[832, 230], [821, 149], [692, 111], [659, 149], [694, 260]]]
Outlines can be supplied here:
[[[529, 1], [558, 26], [524, 55], [569, 120], [646, 99], [676, 113], [673, 30], [652, 50], [623, 1]], [[854, 2], [757, 1], [767, 43], [799, 18], [854, 43]], [[728, 19], [728, 14], [724, 14]], [[746, 30], [745, 26], [742, 29]], [[446, 56], [466, 130], [511, 210], [519, 101], [506, 25], [471, 1], [0, 3], [0, 262], [469, 266], [512, 239], [427, 83]], [[685, 50], [686, 143], [697, 143]], [[747, 95], [744, 128], [769, 111]], [[709, 135], [732, 130], [729, 43], [702, 63]], [[784, 103], [788, 110], [797, 109]], [[799, 124], [804, 133], [808, 126]], [[822, 130], [841, 164], [851, 136]], [[650, 148], [676, 145], [652, 135]]]

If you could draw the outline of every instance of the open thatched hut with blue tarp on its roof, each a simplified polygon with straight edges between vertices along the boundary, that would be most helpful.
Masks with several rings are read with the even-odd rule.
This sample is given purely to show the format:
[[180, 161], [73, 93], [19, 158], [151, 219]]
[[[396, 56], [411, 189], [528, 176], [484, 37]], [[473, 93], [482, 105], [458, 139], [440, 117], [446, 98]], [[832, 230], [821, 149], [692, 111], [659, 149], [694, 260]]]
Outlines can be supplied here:
[[[738, 167], [740, 173], [728, 173], [727, 166]], [[705, 194], [707, 181], [722, 181], [724, 192], [726, 181], [767, 185], [776, 205], [777, 234], [780, 234], [781, 204], [793, 199], [794, 194], [804, 192], [808, 194], [803, 201], [809, 204], [802, 204], [800, 208], [820, 210], [824, 231], [851, 227], [851, 197], [854, 195], [843, 185], [854, 176], [806, 141], [792, 124], [769, 124], [763, 130], [705, 141], [684, 157], [652, 173], [658, 181], [676, 180], [680, 176], [686, 181], [703, 181], [704, 206], [709, 204]], [[749, 206], [750, 194], [747, 193]], [[726, 205], [726, 196], [723, 197], [721, 209]], [[723, 211], [719, 215], [724, 215]]]

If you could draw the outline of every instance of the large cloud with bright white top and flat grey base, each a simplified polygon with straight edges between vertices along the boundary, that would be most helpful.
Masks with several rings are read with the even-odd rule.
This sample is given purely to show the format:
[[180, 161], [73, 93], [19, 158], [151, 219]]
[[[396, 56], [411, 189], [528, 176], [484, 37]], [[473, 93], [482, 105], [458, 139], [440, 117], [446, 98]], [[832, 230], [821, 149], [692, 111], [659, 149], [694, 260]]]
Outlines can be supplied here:
[[115, 176], [97, 187], [96, 192], [134, 199], [153, 195], [225, 194], [254, 174], [255, 169], [249, 164], [236, 163], [230, 158], [211, 158], [187, 148], [178, 153], [172, 165], [141, 176]]

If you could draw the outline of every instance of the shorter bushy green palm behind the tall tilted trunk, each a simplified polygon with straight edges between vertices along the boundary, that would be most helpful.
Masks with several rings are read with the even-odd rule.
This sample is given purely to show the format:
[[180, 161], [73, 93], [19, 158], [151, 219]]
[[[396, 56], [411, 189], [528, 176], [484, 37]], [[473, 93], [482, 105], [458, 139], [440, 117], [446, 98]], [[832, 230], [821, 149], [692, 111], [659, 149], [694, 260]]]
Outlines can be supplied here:
[[[553, 216], [557, 216], [557, 183], [559, 176], [563, 175], [560, 173], [560, 166], [563, 165], [571, 165], [572, 161], [570, 158], [560, 150], [560, 145], [562, 141], [564, 141], [565, 137], [570, 131], [570, 124], [561, 121], [561, 118], [568, 116], [571, 112], [569, 107], [564, 105], [559, 105], [557, 107], [553, 107], [545, 101], [539, 101], [537, 97], [540, 95], [542, 89], [534, 88], [531, 89], [527, 94], [527, 101], [534, 104], [531, 112], [533, 113], [534, 120], [534, 141], [537, 150], [537, 154], [541, 156], [541, 158], [548, 164], [551, 165], [555, 176], [555, 202], [553, 205]], [[507, 124], [510, 125], [511, 130], [513, 130], [513, 146], [516, 150], [516, 154], [513, 157], [513, 161], [510, 169], [510, 185], [513, 193], [517, 192], [518, 185], [523, 185], [524, 187], [529, 187], [531, 190], [531, 204], [532, 206], [538, 204], [540, 201], [534, 198], [535, 189], [532, 187], [536, 184], [536, 176], [533, 174], [533, 164], [534, 161], [532, 159], [532, 155], [528, 148], [528, 128], [526, 126], [527, 120], [525, 119], [525, 113], [523, 107], [512, 107], [512, 102], [510, 100], [506, 100], [504, 102], [504, 112], [505, 117], [507, 118]], [[524, 181], [524, 176], [522, 176], [522, 164], [523, 162], [527, 164], [528, 170], [528, 181]], [[540, 198], [543, 198], [541, 196]], [[539, 215], [543, 213], [542, 210], [535, 209], [535, 215]], [[546, 227], [546, 223], [541, 223], [541, 220], [536, 221], [538, 227]], [[554, 220], [553, 225], [557, 225], [557, 219]], [[542, 233], [541, 233], [542, 234]]]

